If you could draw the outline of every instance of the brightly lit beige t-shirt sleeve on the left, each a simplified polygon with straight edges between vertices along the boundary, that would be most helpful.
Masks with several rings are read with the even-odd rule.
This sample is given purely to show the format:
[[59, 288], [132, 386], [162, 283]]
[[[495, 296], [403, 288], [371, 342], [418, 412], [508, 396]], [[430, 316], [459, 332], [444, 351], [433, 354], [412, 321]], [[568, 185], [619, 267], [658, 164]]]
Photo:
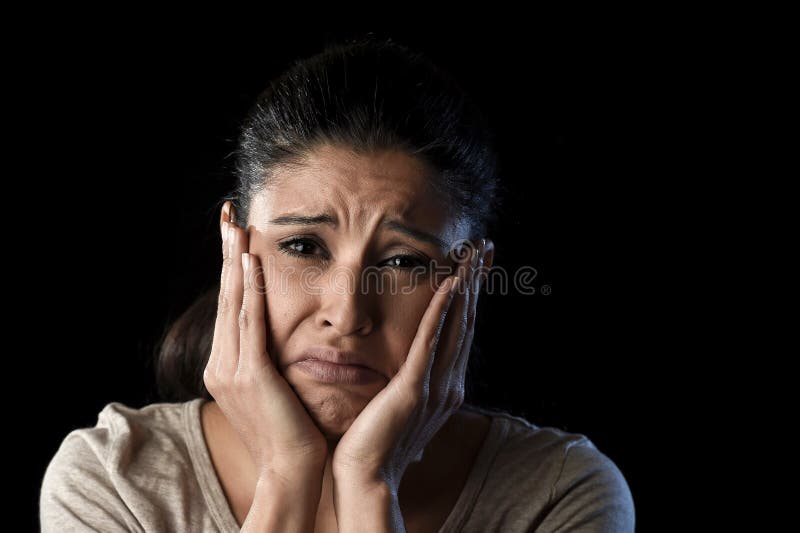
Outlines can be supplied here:
[[39, 493], [44, 533], [144, 531], [104, 466], [106, 433], [103, 428], [75, 430], [50, 460]]

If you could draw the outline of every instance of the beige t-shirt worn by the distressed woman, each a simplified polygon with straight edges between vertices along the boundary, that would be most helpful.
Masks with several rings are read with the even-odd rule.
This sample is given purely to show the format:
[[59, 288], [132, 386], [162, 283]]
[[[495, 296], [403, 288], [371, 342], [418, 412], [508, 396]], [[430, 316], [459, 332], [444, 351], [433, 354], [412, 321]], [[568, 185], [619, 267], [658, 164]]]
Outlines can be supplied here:
[[[206, 447], [198, 398], [106, 405], [70, 432], [39, 499], [42, 531], [238, 531]], [[500, 411], [441, 532], [631, 532], [634, 506], [616, 465], [584, 435]]]

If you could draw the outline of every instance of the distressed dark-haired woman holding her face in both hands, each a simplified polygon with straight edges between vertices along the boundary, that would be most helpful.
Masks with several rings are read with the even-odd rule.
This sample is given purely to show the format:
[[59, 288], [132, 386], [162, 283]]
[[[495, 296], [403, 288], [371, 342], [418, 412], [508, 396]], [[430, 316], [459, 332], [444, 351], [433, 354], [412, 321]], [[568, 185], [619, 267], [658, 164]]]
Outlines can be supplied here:
[[463, 403], [494, 251], [486, 132], [392, 42], [272, 82], [220, 211], [219, 291], [162, 347], [162, 390], [189, 399], [70, 433], [43, 530], [632, 531], [585, 436]]

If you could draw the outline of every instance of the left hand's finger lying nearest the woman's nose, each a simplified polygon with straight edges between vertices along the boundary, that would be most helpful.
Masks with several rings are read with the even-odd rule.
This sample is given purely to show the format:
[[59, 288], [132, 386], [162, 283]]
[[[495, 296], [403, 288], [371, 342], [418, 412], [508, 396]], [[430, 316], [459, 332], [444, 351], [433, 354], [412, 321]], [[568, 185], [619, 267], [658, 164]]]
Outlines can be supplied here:
[[[263, 271], [256, 255], [242, 254], [244, 294], [239, 314], [239, 372], [272, 366], [267, 355]], [[274, 368], [274, 367], [273, 367]]]

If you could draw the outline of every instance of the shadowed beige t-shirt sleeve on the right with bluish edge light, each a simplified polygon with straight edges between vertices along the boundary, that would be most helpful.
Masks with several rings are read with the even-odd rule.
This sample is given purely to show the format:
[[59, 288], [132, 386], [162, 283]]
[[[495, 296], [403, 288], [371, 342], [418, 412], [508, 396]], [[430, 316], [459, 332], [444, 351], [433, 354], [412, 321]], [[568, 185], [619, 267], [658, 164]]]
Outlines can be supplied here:
[[566, 449], [537, 532], [633, 533], [633, 497], [619, 468], [588, 439]]

